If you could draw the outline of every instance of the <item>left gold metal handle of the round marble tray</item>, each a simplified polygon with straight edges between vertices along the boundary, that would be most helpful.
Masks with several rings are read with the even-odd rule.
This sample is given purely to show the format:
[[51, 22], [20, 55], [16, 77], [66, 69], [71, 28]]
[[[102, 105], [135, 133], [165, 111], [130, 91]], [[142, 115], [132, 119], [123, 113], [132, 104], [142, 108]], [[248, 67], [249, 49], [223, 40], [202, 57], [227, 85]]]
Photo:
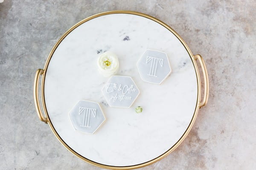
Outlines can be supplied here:
[[35, 101], [35, 109], [36, 112], [38, 113], [39, 119], [45, 123], [48, 122], [47, 117], [45, 117], [42, 113], [42, 110], [40, 108], [39, 105], [39, 98], [38, 98], [38, 82], [39, 82], [39, 78], [41, 75], [44, 74], [44, 70], [43, 69], [38, 69], [35, 73], [35, 82], [34, 82], [34, 101]]

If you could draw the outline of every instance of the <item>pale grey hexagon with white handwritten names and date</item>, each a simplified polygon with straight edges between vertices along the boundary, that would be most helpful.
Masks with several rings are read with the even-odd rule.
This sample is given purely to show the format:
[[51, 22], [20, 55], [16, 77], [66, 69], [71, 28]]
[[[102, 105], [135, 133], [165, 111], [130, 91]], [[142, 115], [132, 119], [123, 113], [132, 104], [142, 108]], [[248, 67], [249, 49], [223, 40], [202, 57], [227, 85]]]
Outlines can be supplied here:
[[102, 89], [111, 107], [129, 108], [140, 94], [133, 79], [128, 76], [112, 76]]

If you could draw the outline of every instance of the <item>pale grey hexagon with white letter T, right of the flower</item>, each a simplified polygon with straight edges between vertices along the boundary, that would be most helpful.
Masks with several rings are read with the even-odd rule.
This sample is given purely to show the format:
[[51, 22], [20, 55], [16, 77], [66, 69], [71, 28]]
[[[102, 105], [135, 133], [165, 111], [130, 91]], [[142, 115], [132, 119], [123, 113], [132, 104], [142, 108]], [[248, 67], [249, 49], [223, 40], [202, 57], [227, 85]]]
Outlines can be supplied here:
[[140, 77], [145, 82], [161, 84], [171, 73], [169, 59], [166, 53], [146, 50], [137, 62]]

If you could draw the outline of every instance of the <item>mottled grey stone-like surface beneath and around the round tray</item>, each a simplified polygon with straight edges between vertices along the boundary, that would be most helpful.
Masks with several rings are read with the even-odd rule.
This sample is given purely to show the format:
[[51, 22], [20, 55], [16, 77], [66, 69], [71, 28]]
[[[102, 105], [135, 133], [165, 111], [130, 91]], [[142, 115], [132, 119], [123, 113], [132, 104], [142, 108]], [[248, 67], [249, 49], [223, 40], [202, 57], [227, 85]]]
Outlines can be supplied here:
[[0, 169], [100, 169], [73, 156], [38, 119], [33, 81], [67, 29], [109, 10], [139, 11], [167, 23], [193, 54], [204, 57], [209, 72], [209, 103], [187, 138], [169, 156], [142, 169], [256, 169], [255, 0], [0, 3]]

